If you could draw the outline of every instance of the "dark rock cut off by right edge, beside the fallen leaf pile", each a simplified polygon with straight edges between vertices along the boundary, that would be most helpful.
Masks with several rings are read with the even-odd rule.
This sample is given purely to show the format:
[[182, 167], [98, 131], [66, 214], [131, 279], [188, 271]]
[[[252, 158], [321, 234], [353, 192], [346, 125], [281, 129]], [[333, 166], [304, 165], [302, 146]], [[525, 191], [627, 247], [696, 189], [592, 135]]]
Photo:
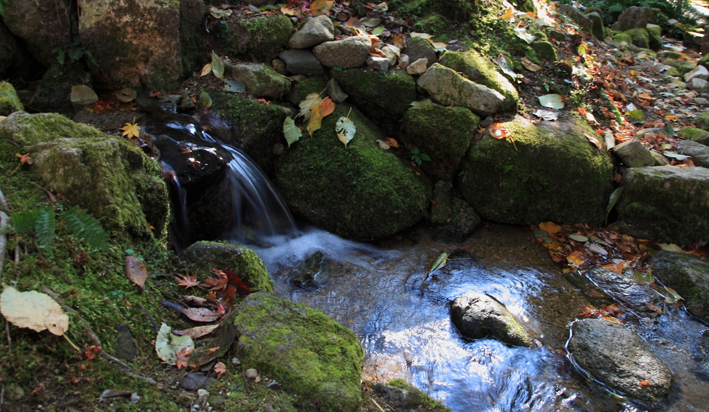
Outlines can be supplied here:
[[652, 274], [682, 296], [688, 311], [709, 322], [709, 263], [665, 250], [657, 252], [650, 262]]

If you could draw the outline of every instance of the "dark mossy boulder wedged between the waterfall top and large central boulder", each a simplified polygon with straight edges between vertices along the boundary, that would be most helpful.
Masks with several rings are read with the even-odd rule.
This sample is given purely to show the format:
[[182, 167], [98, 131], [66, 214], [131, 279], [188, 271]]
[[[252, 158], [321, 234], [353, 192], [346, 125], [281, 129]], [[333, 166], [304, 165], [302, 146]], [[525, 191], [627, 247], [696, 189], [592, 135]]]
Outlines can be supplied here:
[[[322, 89], [320, 89], [322, 90]], [[239, 94], [213, 92], [212, 111], [229, 126], [230, 138], [225, 143], [240, 147], [267, 174], [272, 175], [276, 143], [285, 143], [284, 108], [277, 104], [262, 104]]]

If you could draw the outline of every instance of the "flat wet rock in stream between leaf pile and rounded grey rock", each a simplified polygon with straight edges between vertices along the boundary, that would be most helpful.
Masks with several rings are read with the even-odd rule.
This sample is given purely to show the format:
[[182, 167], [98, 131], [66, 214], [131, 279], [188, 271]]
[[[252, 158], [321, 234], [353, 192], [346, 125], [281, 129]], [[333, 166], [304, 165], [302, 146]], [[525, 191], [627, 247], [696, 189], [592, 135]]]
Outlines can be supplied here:
[[637, 282], [627, 274], [616, 273], [603, 267], [594, 267], [586, 273], [586, 276], [615, 301], [634, 311], [638, 316], [649, 318], [659, 316], [659, 313], [647, 304], [661, 308], [662, 299], [649, 288], [647, 282]]

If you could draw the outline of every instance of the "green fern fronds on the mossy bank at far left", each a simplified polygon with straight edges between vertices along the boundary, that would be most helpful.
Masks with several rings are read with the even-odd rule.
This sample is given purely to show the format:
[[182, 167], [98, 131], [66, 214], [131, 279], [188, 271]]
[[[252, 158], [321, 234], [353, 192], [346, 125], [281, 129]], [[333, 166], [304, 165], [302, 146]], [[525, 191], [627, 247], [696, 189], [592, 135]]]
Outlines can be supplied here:
[[[84, 240], [89, 246], [104, 252], [108, 251], [108, 233], [94, 216], [86, 213], [86, 209], [79, 211], [79, 206], [74, 206], [60, 216], [74, 238]], [[57, 229], [57, 212], [53, 206], [21, 211], [13, 214], [10, 223], [16, 233], [33, 232], [38, 247], [49, 250]]]

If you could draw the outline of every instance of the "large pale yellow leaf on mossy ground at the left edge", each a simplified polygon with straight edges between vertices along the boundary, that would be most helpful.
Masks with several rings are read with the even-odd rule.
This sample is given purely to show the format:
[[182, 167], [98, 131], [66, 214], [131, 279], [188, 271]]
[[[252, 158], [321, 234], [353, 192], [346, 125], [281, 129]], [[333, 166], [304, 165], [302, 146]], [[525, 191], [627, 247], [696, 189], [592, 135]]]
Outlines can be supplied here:
[[13, 325], [30, 328], [35, 332], [48, 329], [57, 336], [69, 330], [69, 316], [49, 295], [37, 291], [17, 291], [6, 284], [2, 286], [0, 312]]

